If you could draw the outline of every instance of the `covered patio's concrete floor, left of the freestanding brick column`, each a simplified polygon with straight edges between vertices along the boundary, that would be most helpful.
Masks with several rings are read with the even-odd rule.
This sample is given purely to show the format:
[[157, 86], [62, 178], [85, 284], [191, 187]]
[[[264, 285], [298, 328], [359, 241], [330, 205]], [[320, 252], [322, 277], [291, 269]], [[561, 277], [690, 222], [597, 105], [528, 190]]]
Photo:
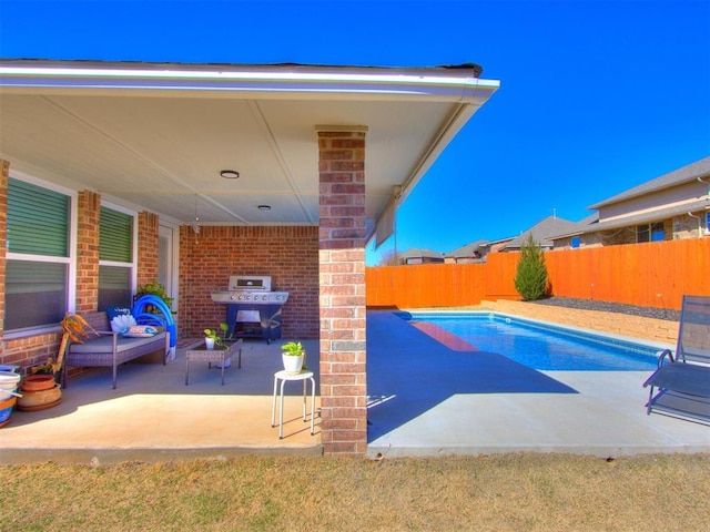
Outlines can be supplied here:
[[[115, 390], [110, 369], [89, 370], [69, 380], [58, 406], [13, 412], [0, 429], [0, 463], [321, 454], [317, 375], [315, 436], [310, 418], [303, 422], [301, 382], [287, 382], [284, 390], [284, 438], [271, 427], [273, 375], [283, 369], [281, 344], [246, 340], [242, 368], [233, 359], [224, 386], [220, 370], [207, 362], [191, 362], [185, 386], [185, 348], [166, 366], [121, 366]], [[304, 346], [308, 366], [317, 369], [317, 341]]]

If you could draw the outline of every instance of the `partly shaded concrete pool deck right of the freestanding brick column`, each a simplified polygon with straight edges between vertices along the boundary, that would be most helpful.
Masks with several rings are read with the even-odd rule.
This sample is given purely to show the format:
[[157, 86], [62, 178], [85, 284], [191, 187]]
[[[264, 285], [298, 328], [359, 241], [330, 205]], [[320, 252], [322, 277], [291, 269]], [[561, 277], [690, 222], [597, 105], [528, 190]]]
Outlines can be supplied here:
[[368, 319], [371, 457], [710, 452], [710, 427], [646, 415], [649, 372], [537, 371]]

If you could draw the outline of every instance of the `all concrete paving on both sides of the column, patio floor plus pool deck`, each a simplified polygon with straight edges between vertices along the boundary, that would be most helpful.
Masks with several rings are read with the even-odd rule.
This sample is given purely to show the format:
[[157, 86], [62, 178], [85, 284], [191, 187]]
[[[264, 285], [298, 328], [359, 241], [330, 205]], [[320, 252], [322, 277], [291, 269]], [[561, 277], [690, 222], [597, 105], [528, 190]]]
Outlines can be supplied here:
[[[536, 371], [453, 350], [388, 311], [368, 313], [367, 335], [369, 458], [710, 452], [709, 427], [646, 415], [645, 372]], [[301, 383], [286, 385], [284, 439], [271, 427], [281, 344], [246, 341], [242, 368], [233, 360], [224, 386], [206, 362], [191, 366], [185, 386], [184, 348], [168, 366], [121, 367], [115, 390], [109, 370], [88, 371], [57, 407], [13, 413], [0, 429], [0, 463], [318, 456], [318, 398], [311, 436]], [[318, 342], [304, 344], [317, 381]]]

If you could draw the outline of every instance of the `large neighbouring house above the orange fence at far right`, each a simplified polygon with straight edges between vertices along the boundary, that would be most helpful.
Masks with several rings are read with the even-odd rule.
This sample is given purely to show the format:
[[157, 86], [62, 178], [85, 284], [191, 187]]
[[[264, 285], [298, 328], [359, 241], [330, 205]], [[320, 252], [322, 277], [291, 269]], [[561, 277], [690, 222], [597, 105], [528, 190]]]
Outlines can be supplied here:
[[589, 208], [597, 213], [554, 236], [556, 249], [710, 236], [710, 157]]

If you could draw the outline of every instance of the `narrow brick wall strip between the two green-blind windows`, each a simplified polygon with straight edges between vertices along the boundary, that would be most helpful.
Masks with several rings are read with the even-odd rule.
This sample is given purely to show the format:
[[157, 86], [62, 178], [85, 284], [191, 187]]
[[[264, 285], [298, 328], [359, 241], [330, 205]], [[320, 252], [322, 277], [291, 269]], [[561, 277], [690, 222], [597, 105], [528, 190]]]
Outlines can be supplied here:
[[77, 235], [77, 311], [99, 308], [99, 222], [101, 196], [81, 191], [78, 201], [79, 233]]

